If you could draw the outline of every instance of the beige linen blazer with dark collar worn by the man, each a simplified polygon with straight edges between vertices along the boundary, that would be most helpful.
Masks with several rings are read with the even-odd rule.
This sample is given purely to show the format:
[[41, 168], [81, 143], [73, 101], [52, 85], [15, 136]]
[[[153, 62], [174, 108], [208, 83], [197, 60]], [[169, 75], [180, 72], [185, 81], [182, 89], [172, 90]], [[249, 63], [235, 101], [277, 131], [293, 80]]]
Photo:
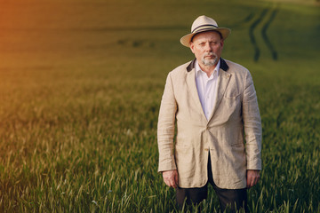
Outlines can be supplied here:
[[180, 187], [201, 187], [211, 154], [214, 183], [245, 188], [246, 170], [261, 170], [261, 121], [252, 76], [245, 67], [220, 59], [217, 99], [208, 121], [196, 90], [195, 61], [167, 76], [157, 126], [158, 171], [178, 170]]

